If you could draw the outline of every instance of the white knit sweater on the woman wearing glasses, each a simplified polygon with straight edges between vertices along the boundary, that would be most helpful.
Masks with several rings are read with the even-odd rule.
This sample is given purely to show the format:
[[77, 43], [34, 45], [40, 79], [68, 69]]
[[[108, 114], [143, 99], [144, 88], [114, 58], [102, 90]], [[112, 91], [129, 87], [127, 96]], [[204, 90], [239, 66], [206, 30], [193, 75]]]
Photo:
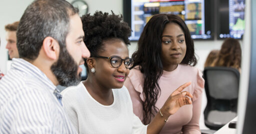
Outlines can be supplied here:
[[62, 103], [79, 133], [146, 133], [133, 113], [132, 102], [125, 86], [112, 89], [114, 101], [102, 105], [87, 91], [82, 82], [64, 89]]

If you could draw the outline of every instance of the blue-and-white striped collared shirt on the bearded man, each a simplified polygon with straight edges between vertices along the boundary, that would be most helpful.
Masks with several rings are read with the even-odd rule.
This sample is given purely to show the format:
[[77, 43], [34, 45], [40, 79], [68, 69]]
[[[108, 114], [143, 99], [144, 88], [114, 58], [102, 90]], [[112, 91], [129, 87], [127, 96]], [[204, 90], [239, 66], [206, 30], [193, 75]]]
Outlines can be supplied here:
[[56, 86], [33, 64], [12, 60], [0, 80], [0, 133], [77, 133], [53, 94]]

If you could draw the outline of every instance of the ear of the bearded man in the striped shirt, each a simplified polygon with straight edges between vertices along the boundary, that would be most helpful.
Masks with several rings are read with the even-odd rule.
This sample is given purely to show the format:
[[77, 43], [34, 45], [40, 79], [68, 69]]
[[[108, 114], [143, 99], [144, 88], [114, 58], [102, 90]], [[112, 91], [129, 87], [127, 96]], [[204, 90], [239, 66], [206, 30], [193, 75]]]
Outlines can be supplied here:
[[53, 37], [47, 36], [43, 39], [42, 49], [48, 58], [53, 60], [58, 58], [59, 44]]

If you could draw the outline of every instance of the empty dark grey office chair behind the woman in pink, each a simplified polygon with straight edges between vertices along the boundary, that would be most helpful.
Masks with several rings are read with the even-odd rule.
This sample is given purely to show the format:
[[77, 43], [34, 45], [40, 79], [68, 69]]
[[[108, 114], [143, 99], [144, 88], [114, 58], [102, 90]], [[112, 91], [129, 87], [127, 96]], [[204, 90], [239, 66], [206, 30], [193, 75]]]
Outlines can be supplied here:
[[217, 130], [236, 116], [239, 71], [231, 67], [205, 67], [203, 77], [207, 97], [204, 123]]

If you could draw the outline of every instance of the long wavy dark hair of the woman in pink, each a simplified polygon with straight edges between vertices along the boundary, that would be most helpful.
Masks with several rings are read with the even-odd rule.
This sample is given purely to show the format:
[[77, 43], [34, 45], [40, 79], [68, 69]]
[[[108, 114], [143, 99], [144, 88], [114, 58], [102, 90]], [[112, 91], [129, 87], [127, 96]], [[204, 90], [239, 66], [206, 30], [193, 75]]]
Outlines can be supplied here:
[[158, 80], [162, 75], [163, 66], [161, 61], [161, 35], [167, 23], [177, 23], [185, 34], [186, 53], [181, 61], [183, 64], [194, 66], [194, 44], [185, 22], [174, 14], [156, 14], [146, 23], [138, 40], [138, 49], [132, 54], [135, 59], [134, 66], [139, 65], [144, 74], [143, 95], [143, 123], [148, 124], [154, 112], [158, 111], [155, 106], [160, 87]]

